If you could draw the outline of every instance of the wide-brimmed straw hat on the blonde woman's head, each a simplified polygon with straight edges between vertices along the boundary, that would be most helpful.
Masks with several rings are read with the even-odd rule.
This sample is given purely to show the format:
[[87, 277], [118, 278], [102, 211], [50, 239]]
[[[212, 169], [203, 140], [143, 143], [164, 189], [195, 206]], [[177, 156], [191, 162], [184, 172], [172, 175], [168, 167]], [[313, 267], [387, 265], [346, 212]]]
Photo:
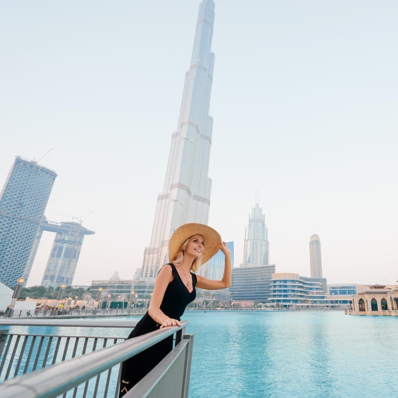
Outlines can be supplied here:
[[169, 259], [173, 261], [179, 252], [181, 245], [193, 235], [202, 235], [204, 237], [204, 250], [200, 258], [204, 264], [218, 252], [221, 242], [220, 234], [213, 228], [204, 224], [190, 223], [178, 227], [169, 243]]

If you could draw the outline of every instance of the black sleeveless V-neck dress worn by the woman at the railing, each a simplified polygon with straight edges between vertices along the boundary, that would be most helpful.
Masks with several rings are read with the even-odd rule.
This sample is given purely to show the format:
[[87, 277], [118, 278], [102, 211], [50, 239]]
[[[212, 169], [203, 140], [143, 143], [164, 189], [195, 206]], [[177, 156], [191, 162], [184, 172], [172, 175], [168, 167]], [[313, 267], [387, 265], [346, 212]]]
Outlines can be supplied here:
[[[192, 275], [193, 291], [189, 292], [187, 286], [180, 278], [174, 264], [170, 265], [173, 273], [173, 280], [167, 286], [160, 309], [170, 318], [181, 320], [187, 305], [196, 298], [197, 277]], [[136, 324], [131, 331], [128, 339], [141, 336], [160, 328], [146, 312], [146, 314]], [[123, 397], [134, 385], [136, 385], [147, 373], [149, 373], [171, 350], [173, 349], [173, 336], [167, 337], [145, 351], [140, 352], [134, 357], [124, 361], [120, 374], [120, 394]]]

